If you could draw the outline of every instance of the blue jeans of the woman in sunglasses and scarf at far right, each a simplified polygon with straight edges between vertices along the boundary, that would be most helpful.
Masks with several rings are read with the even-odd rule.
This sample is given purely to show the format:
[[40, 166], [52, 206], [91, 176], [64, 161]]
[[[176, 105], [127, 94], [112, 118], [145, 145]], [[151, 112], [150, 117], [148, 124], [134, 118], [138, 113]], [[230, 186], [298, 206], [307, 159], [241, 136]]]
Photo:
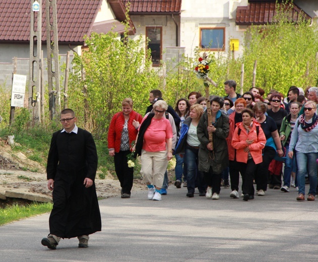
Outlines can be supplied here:
[[296, 152], [297, 158], [297, 183], [299, 188], [299, 193], [305, 194], [305, 174], [308, 169], [309, 176], [309, 194], [316, 194], [317, 187], [317, 164], [316, 159], [318, 158], [318, 153], [301, 153]]

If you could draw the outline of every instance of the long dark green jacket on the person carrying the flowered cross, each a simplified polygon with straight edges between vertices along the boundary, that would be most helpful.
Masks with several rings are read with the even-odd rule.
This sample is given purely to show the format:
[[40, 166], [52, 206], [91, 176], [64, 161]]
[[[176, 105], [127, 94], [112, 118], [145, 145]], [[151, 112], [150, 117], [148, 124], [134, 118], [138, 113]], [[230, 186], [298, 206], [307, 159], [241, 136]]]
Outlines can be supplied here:
[[226, 138], [229, 134], [229, 118], [223, 112], [214, 124], [216, 131], [213, 133], [213, 148], [211, 152], [207, 149], [210, 143], [208, 134], [208, 113], [204, 112], [198, 127], [197, 135], [201, 142], [199, 146], [199, 170], [209, 172], [212, 167], [213, 173], [220, 174], [224, 168], [228, 167], [229, 154], [227, 150]]

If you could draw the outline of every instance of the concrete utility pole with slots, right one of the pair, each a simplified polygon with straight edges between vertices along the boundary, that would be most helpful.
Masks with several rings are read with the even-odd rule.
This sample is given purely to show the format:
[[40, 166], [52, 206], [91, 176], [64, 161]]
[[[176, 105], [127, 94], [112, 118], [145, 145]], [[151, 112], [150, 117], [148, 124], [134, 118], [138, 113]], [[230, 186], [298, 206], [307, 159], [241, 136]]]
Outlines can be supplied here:
[[56, 0], [46, 0], [46, 50], [50, 119], [60, 112]]

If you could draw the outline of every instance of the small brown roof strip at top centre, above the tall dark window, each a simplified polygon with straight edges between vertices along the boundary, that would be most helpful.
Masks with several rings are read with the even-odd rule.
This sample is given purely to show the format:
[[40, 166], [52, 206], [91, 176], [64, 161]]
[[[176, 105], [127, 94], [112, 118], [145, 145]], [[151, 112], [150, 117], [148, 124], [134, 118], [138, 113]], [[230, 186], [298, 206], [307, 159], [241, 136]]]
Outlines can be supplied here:
[[122, 0], [131, 3], [130, 14], [180, 14], [182, 0]]

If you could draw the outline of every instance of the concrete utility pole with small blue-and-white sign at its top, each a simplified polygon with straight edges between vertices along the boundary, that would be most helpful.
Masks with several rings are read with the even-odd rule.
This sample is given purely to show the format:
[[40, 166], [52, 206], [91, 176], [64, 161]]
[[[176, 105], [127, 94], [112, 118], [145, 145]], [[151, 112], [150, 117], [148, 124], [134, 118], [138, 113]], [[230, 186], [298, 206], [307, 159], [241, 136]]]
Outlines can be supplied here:
[[29, 109], [32, 111], [32, 123], [40, 119], [41, 97], [41, 44], [42, 44], [42, 0], [31, 0], [31, 29], [30, 29], [30, 61], [29, 61]]

